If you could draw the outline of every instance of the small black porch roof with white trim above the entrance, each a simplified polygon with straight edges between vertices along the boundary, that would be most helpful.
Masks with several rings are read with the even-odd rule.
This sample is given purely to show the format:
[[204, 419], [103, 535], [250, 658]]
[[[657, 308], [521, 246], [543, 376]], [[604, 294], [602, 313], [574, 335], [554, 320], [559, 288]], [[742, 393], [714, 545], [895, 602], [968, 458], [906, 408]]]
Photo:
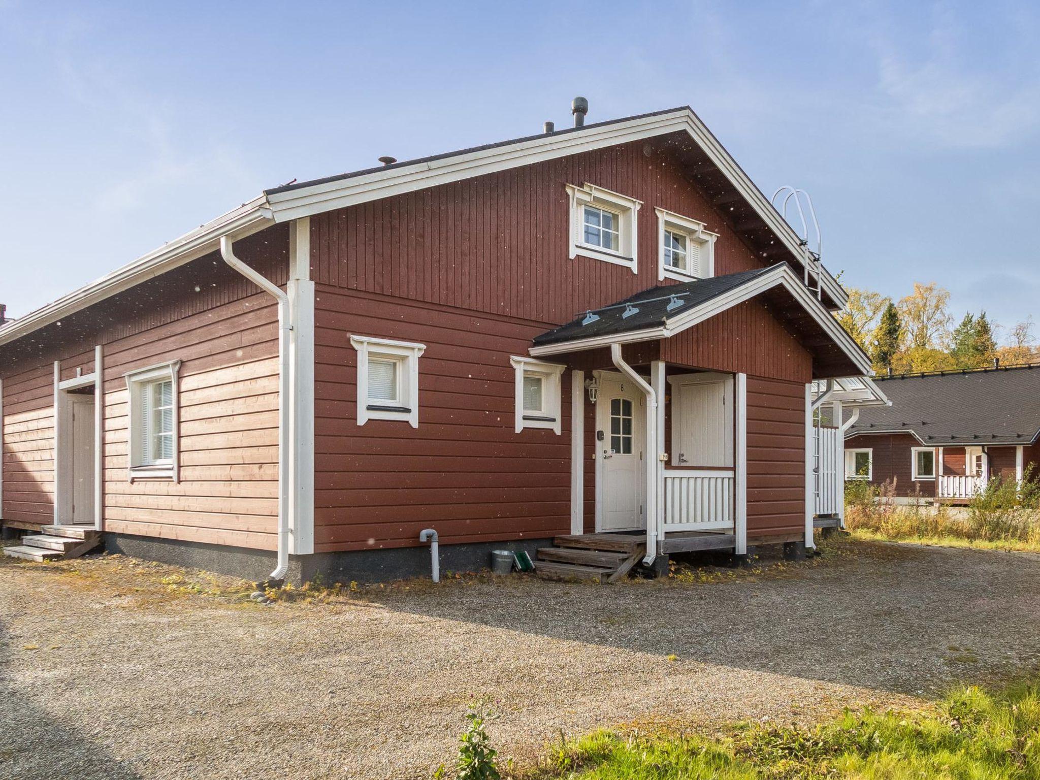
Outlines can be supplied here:
[[803, 320], [825, 334], [824, 343], [843, 357], [846, 373], [849, 368], [869, 373], [870, 359], [786, 263], [643, 290], [536, 336], [529, 352], [543, 357], [669, 338], [745, 301], [777, 292], [795, 307], [776, 307], [785, 311], [775, 316], [794, 322], [791, 312], [801, 312]]

